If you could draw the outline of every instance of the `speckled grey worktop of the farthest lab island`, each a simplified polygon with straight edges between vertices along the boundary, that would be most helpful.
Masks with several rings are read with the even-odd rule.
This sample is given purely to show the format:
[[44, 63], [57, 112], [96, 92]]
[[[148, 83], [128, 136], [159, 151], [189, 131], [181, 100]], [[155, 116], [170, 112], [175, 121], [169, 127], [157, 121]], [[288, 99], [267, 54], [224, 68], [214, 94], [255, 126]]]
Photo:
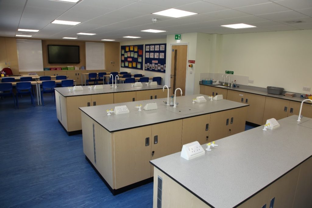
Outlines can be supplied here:
[[[115, 86], [115, 84], [114, 84]], [[82, 86], [83, 90], [80, 91], [68, 91], [68, 87], [56, 87], [54, 88], [57, 92], [59, 92], [64, 97], [71, 96], [81, 96], [81, 95], [94, 95], [94, 94], [105, 94], [105, 93], [114, 93], [114, 92], [129, 92], [129, 91], [138, 91], [138, 90], [155, 90], [155, 89], [163, 89], [163, 85], [146, 85], [143, 83], [141, 87], [131, 87], [131, 83], [126, 84], [117, 84], [117, 88], [111, 87], [110, 85], [103, 85], [103, 89], [94, 90], [94, 85], [90, 85], [92, 87], [89, 89], [89, 86]]]

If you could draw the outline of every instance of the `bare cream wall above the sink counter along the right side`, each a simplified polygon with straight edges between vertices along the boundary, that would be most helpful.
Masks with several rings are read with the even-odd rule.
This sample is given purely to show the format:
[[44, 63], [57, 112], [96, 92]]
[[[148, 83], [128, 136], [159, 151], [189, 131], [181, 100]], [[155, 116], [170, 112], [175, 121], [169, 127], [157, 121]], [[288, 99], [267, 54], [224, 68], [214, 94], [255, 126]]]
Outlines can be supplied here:
[[219, 73], [249, 76], [256, 87], [311, 93], [302, 87], [312, 86], [312, 30], [222, 35], [220, 51]]

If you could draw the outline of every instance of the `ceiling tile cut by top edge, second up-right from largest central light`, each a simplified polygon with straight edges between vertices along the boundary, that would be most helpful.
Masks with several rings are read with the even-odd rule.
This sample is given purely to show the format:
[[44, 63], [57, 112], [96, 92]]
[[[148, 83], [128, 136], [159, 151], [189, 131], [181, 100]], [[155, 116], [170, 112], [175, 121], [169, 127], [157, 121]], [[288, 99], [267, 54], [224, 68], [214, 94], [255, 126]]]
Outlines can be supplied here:
[[228, 7], [228, 8], [237, 8], [237, 7], [246, 7], [246, 6], [251, 6], [255, 4], [261, 4], [261, 3], [268, 3], [270, 2], [269, 0], [240, 0], [240, 1], [232, 1], [232, 0], [204, 0], [206, 2], [211, 2], [223, 7]]

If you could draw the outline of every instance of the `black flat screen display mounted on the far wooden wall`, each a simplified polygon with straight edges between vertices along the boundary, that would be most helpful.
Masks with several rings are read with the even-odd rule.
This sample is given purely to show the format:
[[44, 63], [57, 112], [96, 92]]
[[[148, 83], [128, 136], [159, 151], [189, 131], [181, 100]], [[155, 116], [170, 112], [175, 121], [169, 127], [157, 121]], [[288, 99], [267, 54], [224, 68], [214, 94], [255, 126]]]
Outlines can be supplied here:
[[49, 63], [80, 63], [79, 46], [48, 45]]

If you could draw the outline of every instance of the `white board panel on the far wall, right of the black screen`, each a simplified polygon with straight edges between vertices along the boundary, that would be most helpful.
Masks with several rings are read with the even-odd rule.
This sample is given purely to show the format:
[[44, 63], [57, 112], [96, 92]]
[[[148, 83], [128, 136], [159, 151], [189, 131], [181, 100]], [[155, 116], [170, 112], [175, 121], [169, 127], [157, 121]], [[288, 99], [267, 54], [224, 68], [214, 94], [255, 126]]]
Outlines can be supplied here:
[[85, 64], [87, 70], [105, 69], [103, 42], [85, 42]]

